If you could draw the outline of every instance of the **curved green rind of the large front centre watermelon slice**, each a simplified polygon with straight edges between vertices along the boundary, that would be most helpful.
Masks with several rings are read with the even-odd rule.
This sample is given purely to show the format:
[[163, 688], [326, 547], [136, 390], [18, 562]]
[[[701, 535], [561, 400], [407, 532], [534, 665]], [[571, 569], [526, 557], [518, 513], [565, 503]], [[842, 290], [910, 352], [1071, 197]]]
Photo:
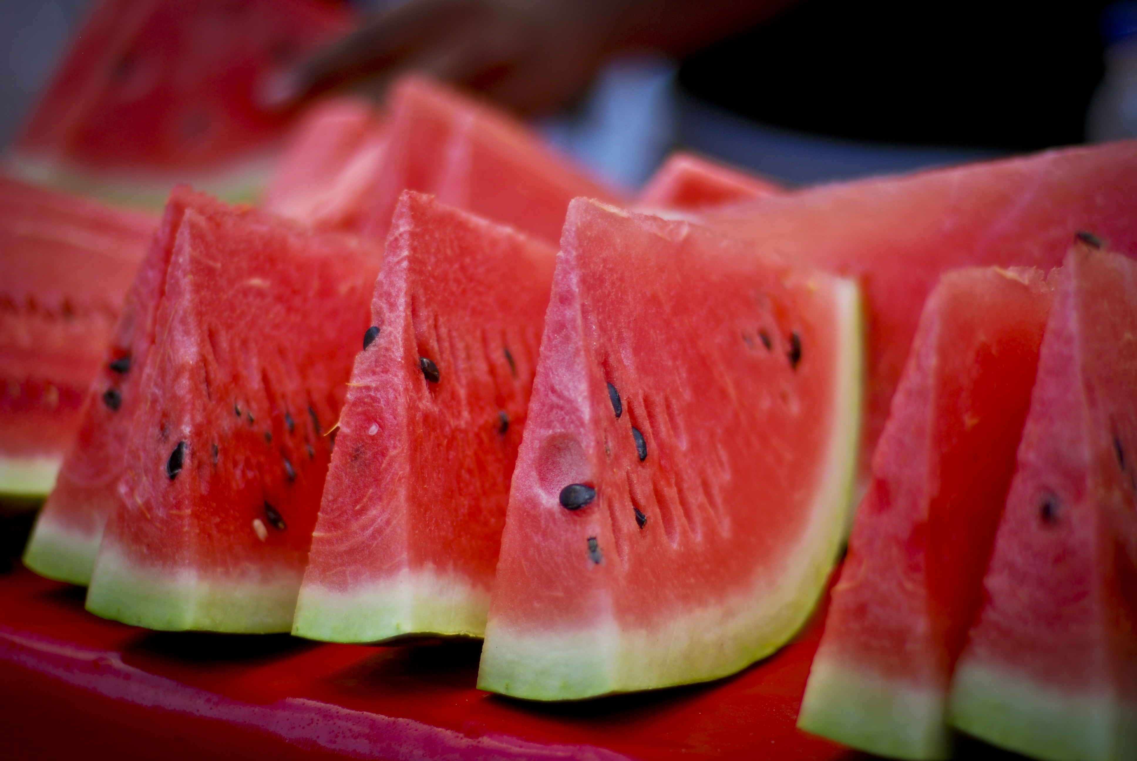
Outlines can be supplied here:
[[608, 623], [580, 631], [518, 631], [491, 620], [478, 672], [479, 689], [534, 701], [708, 681], [770, 655], [802, 628], [824, 590], [845, 536], [860, 440], [863, 333], [861, 299], [852, 281], [836, 284], [835, 430], [813, 522], [789, 556], [775, 587], [756, 579], [750, 593], [692, 611], [653, 630]]

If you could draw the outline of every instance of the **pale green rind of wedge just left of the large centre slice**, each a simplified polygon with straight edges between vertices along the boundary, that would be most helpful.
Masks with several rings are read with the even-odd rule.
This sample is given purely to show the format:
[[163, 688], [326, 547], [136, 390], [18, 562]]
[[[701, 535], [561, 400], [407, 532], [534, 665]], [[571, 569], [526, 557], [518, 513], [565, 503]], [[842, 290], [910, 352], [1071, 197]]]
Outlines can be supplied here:
[[350, 594], [306, 585], [292, 634], [322, 642], [380, 643], [408, 635], [482, 637], [488, 589], [430, 570], [404, 571]]

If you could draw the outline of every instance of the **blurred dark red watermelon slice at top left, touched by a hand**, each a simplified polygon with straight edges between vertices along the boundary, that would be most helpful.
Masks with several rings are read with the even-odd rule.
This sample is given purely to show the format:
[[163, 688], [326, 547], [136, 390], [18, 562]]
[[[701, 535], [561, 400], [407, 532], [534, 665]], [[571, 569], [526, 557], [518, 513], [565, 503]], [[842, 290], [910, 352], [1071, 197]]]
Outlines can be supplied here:
[[100, 0], [24, 125], [17, 166], [152, 206], [190, 181], [248, 199], [290, 116], [259, 108], [257, 88], [350, 23], [319, 0]]

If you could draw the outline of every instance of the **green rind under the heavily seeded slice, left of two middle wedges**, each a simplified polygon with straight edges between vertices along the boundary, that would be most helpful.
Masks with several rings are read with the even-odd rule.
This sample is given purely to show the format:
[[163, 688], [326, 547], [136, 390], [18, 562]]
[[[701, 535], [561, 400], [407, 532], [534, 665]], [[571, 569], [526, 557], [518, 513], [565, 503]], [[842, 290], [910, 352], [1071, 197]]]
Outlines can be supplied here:
[[274, 634], [292, 630], [300, 573], [256, 569], [239, 579], [202, 579], [192, 571], [132, 566], [102, 547], [86, 610], [148, 629]]

